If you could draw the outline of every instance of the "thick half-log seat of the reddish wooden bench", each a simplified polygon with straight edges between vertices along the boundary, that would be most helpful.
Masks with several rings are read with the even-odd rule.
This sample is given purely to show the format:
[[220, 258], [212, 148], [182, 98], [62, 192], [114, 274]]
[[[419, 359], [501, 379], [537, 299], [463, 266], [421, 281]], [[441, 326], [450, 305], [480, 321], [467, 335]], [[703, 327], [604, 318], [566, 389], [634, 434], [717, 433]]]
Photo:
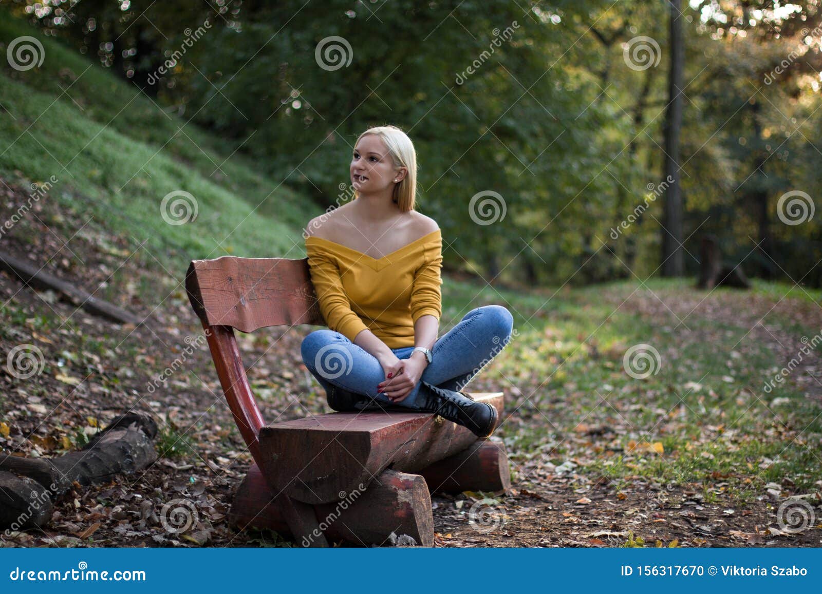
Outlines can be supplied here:
[[[472, 394], [502, 416], [502, 393]], [[425, 412], [331, 412], [264, 426], [261, 470], [275, 492], [310, 504], [339, 500], [389, 466], [415, 472], [477, 440], [469, 429]]]

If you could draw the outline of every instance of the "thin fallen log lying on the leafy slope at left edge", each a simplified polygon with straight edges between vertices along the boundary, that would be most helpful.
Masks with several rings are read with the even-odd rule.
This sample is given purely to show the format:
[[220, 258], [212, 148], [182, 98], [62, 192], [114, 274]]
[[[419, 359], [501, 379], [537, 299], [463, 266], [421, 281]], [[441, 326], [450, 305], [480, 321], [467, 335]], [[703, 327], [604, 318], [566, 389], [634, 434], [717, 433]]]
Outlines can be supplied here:
[[109, 302], [104, 302], [101, 299], [93, 297], [90, 293], [83, 291], [81, 288], [77, 288], [74, 283], [68, 283], [67, 281], [58, 279], [52, 274], [44, 272], [42, 269], [39, 269], [37, 265], [27, 260], [21, 260], [9, 254], [0, 253], [0, 269], [7, 270], [31, 288], [41, 290], [51, 289], [61, 293], [76, 306], [80, 306], [85, 311], [99, 315], [106, 320], [111, 320], [118, 324], [133, 325], [141, 325], [145, 322], [144, 319], [137, 315], [122, 310]]

